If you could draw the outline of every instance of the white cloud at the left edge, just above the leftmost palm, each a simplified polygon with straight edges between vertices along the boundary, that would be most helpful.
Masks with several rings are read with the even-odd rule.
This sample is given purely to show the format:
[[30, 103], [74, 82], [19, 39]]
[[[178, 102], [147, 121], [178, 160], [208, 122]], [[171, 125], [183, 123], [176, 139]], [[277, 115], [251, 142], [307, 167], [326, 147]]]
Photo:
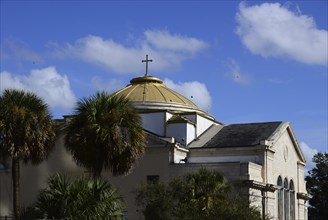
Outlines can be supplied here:
[[29, 75], [0, 73], [1, 91], [8, 88], [31, 91], [41, 97], [49, 107], [71, 109], [76, 101], [66, 75], [59, 74], [54, 67], [34, 69]]

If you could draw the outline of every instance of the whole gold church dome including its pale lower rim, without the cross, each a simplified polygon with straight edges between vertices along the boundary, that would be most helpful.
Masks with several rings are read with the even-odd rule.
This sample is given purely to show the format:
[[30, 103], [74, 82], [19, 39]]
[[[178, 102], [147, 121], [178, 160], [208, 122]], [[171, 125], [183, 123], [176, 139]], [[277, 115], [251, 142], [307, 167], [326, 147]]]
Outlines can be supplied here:
[[198, 112], [208, 115], [183, 95], [166, 87], [162, 80], [153, 76], [134, 78], [125, 88], [113, 93], [124, 96], [139, 111], [170, 110], [173, 112]]

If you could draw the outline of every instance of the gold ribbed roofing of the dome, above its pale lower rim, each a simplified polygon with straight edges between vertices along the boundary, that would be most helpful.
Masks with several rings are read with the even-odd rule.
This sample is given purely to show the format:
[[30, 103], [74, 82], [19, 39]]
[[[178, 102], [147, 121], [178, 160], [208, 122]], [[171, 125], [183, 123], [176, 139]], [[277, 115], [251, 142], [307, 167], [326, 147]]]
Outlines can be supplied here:
[[192, 101], [167, 88], [162, 80], [153, 76], [134, 78], [129, 85], [115, 92], [114, 95], [125, 96], [130, 102], [159, 102], [198, 108]]

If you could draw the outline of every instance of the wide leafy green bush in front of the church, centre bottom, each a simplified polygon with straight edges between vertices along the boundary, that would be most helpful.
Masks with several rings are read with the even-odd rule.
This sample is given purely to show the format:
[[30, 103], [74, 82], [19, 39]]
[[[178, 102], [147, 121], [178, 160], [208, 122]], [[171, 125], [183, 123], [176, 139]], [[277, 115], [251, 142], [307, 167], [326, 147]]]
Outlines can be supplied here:
[[234, 195], [221, 174], [206, 169], [168, 184], [142, 185], [136, 201], [146, 220], [261, 219], [258, 210]]

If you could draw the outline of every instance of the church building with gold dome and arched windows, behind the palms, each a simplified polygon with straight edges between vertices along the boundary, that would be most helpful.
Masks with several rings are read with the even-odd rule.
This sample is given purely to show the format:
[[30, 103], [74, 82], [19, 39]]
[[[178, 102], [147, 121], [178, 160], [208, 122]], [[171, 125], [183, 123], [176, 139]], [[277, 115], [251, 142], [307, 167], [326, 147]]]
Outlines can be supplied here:
[[[148, 145], [145, 155], [125, 176], [103, 172], [122, 194], [127, 219], [142, 219], [134, 189], [141, 183], [168, 181], [197, 171], [215, 170], [273, 219], [307, 220], [305, 158], [289, 122], [223, 124], [159, 78], [134, 78], [113, 95], [130, 100], [142, 117]], [[69, 116], [57, 120], [67, 123]], [[36, 199], [47, 178], [56, 173], [81, 175], [60, 134], [53, 153], [38, 166], [21, 166], [21, 204]], [[11, 172], [0, 168], [0, 216], [12, 212]]]

